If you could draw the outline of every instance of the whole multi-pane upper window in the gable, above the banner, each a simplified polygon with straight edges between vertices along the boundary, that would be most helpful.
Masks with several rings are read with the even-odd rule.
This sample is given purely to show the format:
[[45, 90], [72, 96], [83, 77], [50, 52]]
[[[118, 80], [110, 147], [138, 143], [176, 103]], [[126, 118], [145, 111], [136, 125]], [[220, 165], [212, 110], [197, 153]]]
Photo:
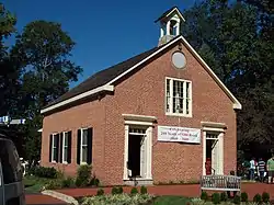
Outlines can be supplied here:
[[192, 82], [165, 79], [165, 114], [192, 116]]

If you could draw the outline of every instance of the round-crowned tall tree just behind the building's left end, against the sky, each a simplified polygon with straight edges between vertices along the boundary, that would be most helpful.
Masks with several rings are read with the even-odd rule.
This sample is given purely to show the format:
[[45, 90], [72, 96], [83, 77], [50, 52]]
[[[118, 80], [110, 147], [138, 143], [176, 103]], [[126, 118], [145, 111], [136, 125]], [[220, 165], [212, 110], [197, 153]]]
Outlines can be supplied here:
[[77, 81], [82, 72], [82, 68], [69, 59], [73, 46], [75, 42], [61, 25], [54, 22], [31, 22], [16, 36], [11, 56], [22, 69], [18, 115], [27, 118], [24, 132], [30, 160], [39, 157], [41, 109], [68, 91], [69, 83]]

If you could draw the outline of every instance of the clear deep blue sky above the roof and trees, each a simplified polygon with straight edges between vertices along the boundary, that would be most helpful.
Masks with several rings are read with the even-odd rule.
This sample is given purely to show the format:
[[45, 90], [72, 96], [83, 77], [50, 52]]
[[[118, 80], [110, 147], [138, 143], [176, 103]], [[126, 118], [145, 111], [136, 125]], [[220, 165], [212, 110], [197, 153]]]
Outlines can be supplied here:
[[[35, 20], [61, 24], [76, 42], [71, 60], [83, 68], [78, 82], [158, 44], [160, 29], [155, 23], [173, 5], [181, 11], [194, 0], [3, 0], [18, 18], [16, 29]], [[12, 45], [14, 38], [7, 44]]]

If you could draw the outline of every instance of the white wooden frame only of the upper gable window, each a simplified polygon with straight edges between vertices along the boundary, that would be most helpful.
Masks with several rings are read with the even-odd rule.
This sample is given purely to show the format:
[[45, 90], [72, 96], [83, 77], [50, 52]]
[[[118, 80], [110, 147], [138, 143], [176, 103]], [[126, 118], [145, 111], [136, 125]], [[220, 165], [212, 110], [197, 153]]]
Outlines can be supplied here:
[[[168, 90], [167, 90], [167, 83], [168, 80], [170, 80], [170, 88], [169, 88], [169, 92], [170, 92], [170, 107], [169, 107], [169, 112], [167, 111], [167, 105], [168, 105]], [[180, 81], [180, 82], [184, 82], [183, 84], [183, 95], [184, 95], [184, 100], [183, 100], [183, 113], [173, 113], [173, 82], [174, 81]], [[186, 83], [189, 83], [189, 114], [186, 114]], [[184, 80], [184, 79], [178, 79], [178, 78], [170, 78], [170, 77], [165, 77], [164, 80], [164, 113], [165, 115], [171, 115], [171, 116], [183, 116], [183, 117], [192, 117], [192, 81], [190, 80]]]

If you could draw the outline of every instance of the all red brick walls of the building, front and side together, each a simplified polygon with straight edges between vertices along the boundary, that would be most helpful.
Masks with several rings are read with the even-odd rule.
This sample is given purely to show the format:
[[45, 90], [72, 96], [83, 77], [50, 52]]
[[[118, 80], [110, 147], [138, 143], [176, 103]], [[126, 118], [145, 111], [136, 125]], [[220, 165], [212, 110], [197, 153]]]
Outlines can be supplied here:
[[[72, 129], [72, 163], [66, 172], [76, 171], [76, 134], [81, 126], [94, 129], [93, 167], [104, 184], [122, 184], [124, 167], [124, 119], [122, 114], [157, 117], [153, 128], [152, 178], [155, 182], [198, 180], [202, 174], [201, 145], [157, 141], [157, 125], [201, 128], [201, 122], [225, 123], [225, 173], [236, 168], [236, 113], [232, 102], [197, 60], [183, 47], [187, 59], [184, 70], [171, 64], [172, 48], [128, 79], [115, 86], [114, 95], [93, 101], [44, 118], [42, 164], [48, 162], [48, 136], [52, 132]], [[164, 78], [192, 80], [193, 117], [167, 116], [164, 113]], [[75, 155], [73, 155], [75, 153]], [[57, 166], [59, 167], [59, 166]]]

